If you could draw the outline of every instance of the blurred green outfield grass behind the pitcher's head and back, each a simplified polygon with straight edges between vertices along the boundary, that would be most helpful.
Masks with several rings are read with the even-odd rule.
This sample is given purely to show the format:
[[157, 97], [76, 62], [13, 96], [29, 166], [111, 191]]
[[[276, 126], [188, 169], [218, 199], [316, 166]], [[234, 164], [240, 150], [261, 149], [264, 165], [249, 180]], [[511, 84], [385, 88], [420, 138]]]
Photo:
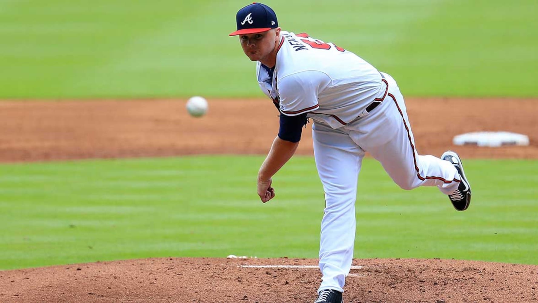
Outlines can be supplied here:
[[[249, 2], [0, 0], [0, 98], [262, 96]], [[536, 97], [535, 0], [274, 0], [280, 25], [392, 74], [409, 96]]]

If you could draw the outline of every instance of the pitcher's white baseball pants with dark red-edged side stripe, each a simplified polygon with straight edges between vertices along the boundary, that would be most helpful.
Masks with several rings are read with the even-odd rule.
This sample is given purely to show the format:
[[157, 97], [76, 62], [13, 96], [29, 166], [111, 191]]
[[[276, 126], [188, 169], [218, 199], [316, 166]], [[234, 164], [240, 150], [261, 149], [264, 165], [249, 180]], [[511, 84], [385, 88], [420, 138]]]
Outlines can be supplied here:
[[417, 153], [404, 97], [394, 79], [383, 75], [388, 94], [371, 113], [338, 129], [319, 121], [312, 126], [316, 166], [325, 191], [319, 264], [323, 277], [318, 292], [343, 292], [353, 258], [357, 178], [365, 152], [403, 189], [437, 186], [449, 194], [458, 186], [454, 178], [459, 179], [459, 174], [449, 161]]

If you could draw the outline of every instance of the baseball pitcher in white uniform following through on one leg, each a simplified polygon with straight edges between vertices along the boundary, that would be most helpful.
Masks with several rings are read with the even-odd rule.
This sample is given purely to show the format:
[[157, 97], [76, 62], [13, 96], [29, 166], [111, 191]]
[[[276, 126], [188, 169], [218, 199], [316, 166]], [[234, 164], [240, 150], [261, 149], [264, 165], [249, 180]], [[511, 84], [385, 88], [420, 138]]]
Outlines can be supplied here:
[[307, 33], [281, 30], [275, 12], [252, 3], [236, 15], [243, 52], [257, 61], [258, 84], [280, 112], [280, 128], [258, 173], [262, 202], [274, 198], [272, 177], [293, 156], [313, 120], [314, 156], [325, 192], [321, 222], [322, 282], [315, 303], [341, 303], [355, 241], [357, 178], [365, 152], [403, 189], [437, 186], [457, 210], [471, 201], [458, 154], [415, 149], [404, 97], [389, 74], [356, 54]]

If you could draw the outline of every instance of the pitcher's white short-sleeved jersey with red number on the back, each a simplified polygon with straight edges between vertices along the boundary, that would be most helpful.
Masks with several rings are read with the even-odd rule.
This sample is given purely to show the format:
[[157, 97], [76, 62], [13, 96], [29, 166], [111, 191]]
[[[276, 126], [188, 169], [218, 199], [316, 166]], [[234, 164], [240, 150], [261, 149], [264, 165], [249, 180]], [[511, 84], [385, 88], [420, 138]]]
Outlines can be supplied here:
[[257, 74], [261, 90], [282, 114], [308, 112], [339, 128], [386, 92], [379, 71], [356, 54], [306, 33], [281, 31], [281, 36], [273, 80], [259, 61]]

